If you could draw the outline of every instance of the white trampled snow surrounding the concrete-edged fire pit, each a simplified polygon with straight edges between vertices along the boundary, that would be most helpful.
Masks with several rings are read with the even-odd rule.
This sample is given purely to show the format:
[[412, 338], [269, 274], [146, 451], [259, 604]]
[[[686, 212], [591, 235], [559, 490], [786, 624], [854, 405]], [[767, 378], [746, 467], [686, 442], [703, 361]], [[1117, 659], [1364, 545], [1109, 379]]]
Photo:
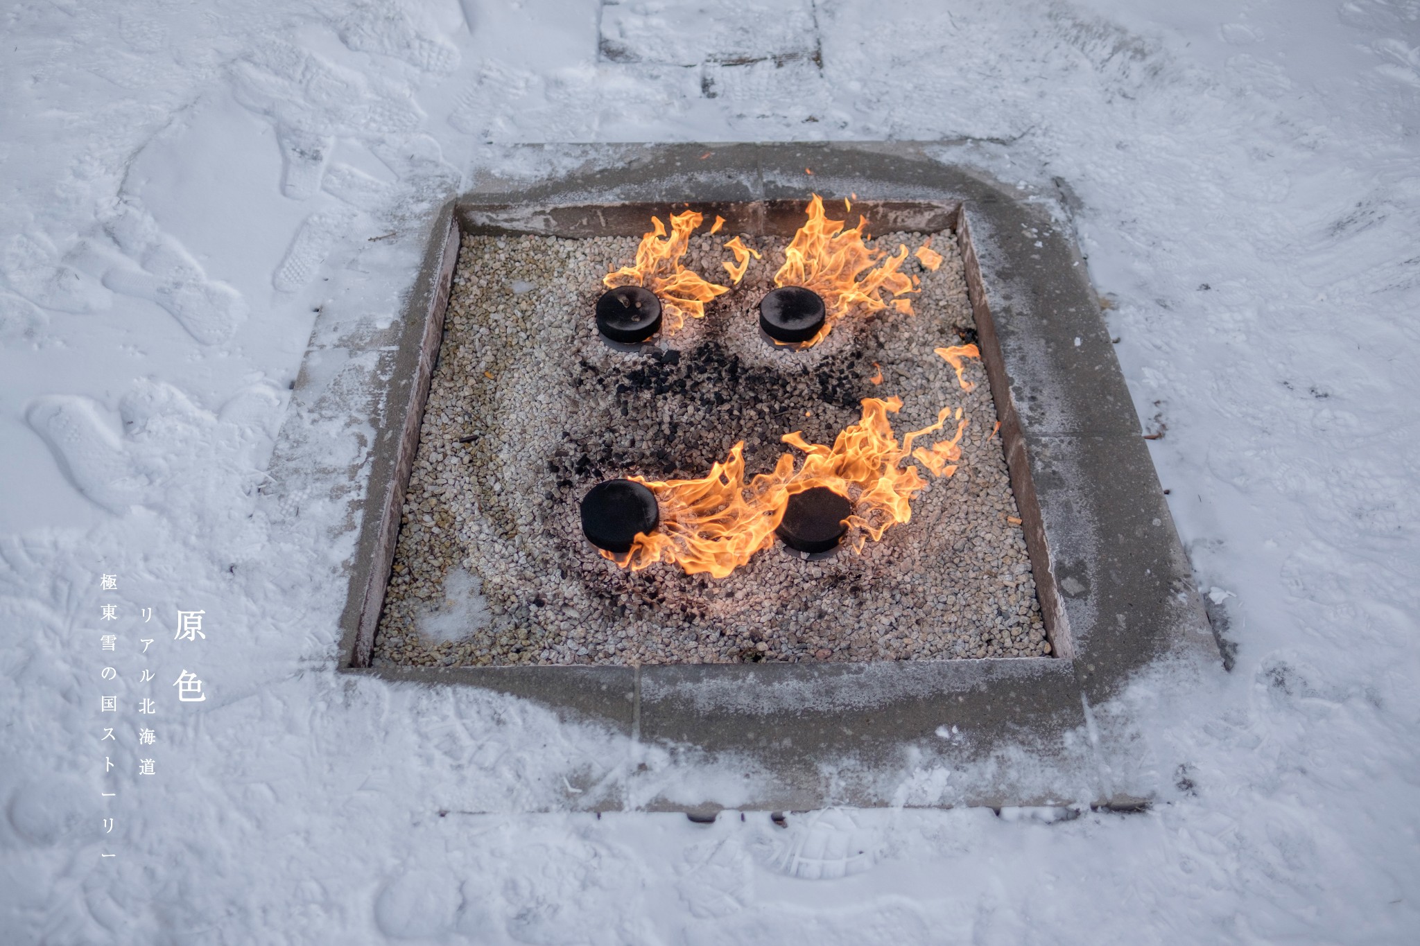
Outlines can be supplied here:
[[[1414, 942], [1416, 0], [20, 0], [0, 24], [4, 943]], [[1149, 813], [534, 814], [572, 770], [674, 773], [513, 699], [332, 672], [348, 509], [258, 495], [317, 309], [389, 319], [430, 203], [537, 173], [500, 146], [785, 139], [943, 140], [1074, 194], [1237, 648], [1154, 713]], [[172, 640], [179, 608], [204, 640]]]

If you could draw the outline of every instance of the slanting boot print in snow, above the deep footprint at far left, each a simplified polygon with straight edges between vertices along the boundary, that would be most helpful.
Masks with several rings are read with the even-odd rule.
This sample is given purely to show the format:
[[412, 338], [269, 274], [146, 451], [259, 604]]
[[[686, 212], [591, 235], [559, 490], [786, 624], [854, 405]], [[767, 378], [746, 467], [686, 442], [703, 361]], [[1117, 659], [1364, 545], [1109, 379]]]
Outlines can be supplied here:
[[241, 294], [226, 282], [209, 279], [192, 254], [162, 233], [145, 211], [124, 204], [104, 223], [104, 230], [142, 267], [114, 267], [105, 272], [104, 285], [114, 292], [160, 305], [203, 345], [224, 342], [246, 319]]

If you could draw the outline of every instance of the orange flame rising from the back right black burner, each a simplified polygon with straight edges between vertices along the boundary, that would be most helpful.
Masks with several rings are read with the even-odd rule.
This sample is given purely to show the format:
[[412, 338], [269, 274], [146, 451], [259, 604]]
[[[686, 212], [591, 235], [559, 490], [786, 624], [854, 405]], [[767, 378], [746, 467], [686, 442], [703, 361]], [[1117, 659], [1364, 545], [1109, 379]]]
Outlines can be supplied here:
[[[824, 330], [808, 345], [824, 340], [834, 322], [855, 305], [866, 312], [888, 308], [879, 292], [899, 296], [917, 291], [916, 278], [899, 272], [907, 261], [907, 247], [897, 247], [893, 255], [869, 250], [863, 244], [868, 220], [859, 217], [856, 227], [843, 230], [846, 221], [829, 220], [818, 194], [814, 194], [807, 213], [808, 221], [784, 250], [784, 265], [774, 274], [774, 285], [798, 285], [824, 296], [828, 318]], [[912, 315], [907, 299], [893, 299], [892, 304], [899, 312]]]

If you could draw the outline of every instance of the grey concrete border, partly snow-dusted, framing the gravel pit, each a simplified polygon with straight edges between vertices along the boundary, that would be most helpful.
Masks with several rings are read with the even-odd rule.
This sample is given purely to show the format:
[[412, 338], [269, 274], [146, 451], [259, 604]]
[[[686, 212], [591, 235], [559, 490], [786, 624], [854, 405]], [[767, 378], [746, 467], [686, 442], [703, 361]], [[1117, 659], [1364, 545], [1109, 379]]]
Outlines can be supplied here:
[[[528, 146], [532, 150], [541, 146]], [[1216, 662], [1137, 416], [1082, 258], [1041, 203], [932, 159], [929, 146], [602, 145], [541, 150], [577, 170], [484, 182], [446, 204], [369, 423], [368, 492], [341, 617], [342, 672], [481, 686], [613, 726], [746, 787], [586, 790], [569, 807], [804, 810], [913, 803], [906, 770], [953, 773], [929, 804], [1137, 804], [1100, 776], [1140, 720], [1091, 712], [1169, 661]], [[555, 163], [555, 162], [554, 162]], [[807, 174], [805, 169], [812, 169]], [[858, 194], [873, 233], [953, 231], [967, 267], [1011, 485], [1055, 651], [1048, 658], [657, 667], [369, 667], [460, 233], [639, 235], [693, 204], [724, 233], [788, 235], [809, 193]], [[983, 279], [985, 272], [985, 279]], [[707, 769], [709, 772], [710, 769]], [[591, 779], [588, 784], [591, 784]], [[1125, 784], [1125, 787], [1120, 787]]]

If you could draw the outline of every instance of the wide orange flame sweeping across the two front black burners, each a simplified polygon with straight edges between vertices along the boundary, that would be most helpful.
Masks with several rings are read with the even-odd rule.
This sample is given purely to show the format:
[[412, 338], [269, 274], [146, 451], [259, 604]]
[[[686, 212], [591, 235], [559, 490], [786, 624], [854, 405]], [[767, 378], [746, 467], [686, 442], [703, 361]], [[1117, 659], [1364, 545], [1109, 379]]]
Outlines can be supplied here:
[[848, 526], [858, 530], [852, 545], [861, 552], [869, 539], [876, 542], [888, 528], [912, 519], [912, 498], [927, 481], [903, 461], [916, 460], [934, 475], [950, 477], [967, 425], [957, 408], [953, 440], [913, 450], [916, 438], [941, 430], [950, 408], [941, 410], [936, 424], [906, 434], [899, 445], [888, 414], [899, 411], [902, 400], [866, 397], [862, 406], [862, 418], [841, 431], [832, 447], [811, 444], [799, 431], [785, 434], [781, 440], [804, 454], [802, 462], [792, 452], [781, 454], [771, 472], [757, 474], [748, 482], [743, 441], [700, 479], [660, 482], [629, 477], [656, 494], [660, 526], [650, 535], [639, 533], [626, 555], [602, 552], [602, 557], [632, 570], [666, 562], [687, 574], [706, 572], [723, 579], [774, 545], [774, 530], [784, 519], [790, 496], [815, 486], [852, 501]]

